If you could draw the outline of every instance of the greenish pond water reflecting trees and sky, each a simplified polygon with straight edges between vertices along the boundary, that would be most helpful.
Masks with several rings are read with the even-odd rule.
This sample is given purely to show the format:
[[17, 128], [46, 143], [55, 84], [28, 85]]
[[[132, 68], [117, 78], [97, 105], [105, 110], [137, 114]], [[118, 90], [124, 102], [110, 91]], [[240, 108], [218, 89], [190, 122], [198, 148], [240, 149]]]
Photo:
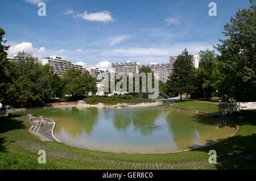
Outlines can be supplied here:
[[55, 137], [65, 144], [118, 153], [170, 153], [198, 148], [225, 139], [235, 130], [224, 120], [167, 106], [67, 107], [15, 114], [28, 113], [55, 120]]

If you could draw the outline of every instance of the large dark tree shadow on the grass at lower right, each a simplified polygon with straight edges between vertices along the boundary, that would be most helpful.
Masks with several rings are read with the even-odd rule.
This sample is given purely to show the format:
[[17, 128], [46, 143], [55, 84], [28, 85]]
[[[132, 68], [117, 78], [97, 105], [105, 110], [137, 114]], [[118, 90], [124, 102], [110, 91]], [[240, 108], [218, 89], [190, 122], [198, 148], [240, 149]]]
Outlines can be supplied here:
[[[256, 169], [256, 130], [253, 127], [256, 125], [255, 116], [256, 114], [247, 113], [229, 116], [238, 127], [246, 125], [241, 128], [243, 129], [241, 132], [225, 141], [207, 140], [206, 145], [218, 143], [191, 151], [204, 151], [208, 154], [209, 150], [216, 150], [218, 157], [216, 169]], [[192, 148], [196, 146], [199, 145], [194, 145]]]

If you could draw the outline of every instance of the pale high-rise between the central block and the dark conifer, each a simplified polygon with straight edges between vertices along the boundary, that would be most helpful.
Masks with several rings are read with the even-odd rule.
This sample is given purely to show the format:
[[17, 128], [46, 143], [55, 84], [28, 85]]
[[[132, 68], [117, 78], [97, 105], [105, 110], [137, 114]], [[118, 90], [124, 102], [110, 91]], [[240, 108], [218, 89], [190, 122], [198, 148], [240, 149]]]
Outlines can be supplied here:
[[170, 75], [170, 64], [158, 64], [157, 62], [151, 62], [149, 65], [145, 65], [154, 71], [154, 77], [158, 78], [161, 82], [166, 82]]

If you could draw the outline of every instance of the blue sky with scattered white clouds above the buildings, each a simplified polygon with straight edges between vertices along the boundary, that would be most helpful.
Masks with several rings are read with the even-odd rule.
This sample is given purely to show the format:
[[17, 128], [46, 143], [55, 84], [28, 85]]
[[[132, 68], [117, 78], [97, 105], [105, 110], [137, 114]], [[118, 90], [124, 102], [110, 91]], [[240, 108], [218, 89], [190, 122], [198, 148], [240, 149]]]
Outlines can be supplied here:
[[[100, 68], [126, 60], [167, 63], [184, 48], [213, 49], [230, 17], [250, 6], [249, 0], [45, 0], [46, 16], [38, 16], [38, 2], [0, 1], [9, 54], [59, 55]], [[208, 15], [210, 2], [217, 16]]]

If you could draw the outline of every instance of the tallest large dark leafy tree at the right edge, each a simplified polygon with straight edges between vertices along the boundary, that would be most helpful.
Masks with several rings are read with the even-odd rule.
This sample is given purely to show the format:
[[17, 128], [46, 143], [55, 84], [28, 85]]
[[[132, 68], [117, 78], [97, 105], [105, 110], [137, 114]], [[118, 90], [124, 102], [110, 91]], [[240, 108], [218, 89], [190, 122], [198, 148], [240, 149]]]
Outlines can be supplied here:
[[223, 32], [229, 38], [215, 47], [220, 53], [220, 96], [246, 102], [256, 100], [256, 6], [238, 10]]

